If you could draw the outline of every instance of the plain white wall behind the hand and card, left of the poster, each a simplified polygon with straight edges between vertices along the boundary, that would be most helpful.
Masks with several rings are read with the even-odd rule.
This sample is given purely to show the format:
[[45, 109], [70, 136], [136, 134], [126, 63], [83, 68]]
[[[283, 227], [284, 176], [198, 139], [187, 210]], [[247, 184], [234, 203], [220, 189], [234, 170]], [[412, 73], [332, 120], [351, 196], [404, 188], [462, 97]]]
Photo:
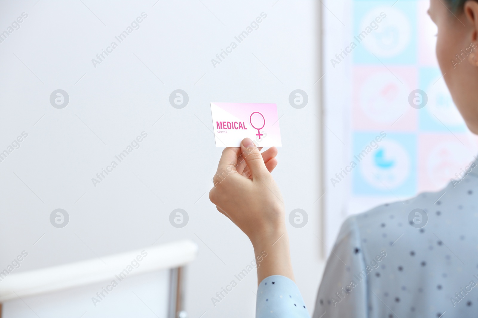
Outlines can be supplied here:
[[[28, 256], [14, 272], [186, 237], [200, 248], [188, 270], [190, 317], [253, 317], [255, 273], [216, 307], [211, 301], [254, 255], [207, 197], [222, 150], [209, 130], [209, 102], [277, 103], [283, 146], [273, 174], [287, 214], [309, 215], [305, 227], [288, 229], [312, 311], [323, 265], [317, 3], [36, 1], [0, 2], [0, 32], [28, 14], [0, 43], [0, 151], [28, 133], [0, 162], [0, 270], [23, 250]], [[91, 60], [141, 12], [140, 28], [95, 68]], [[213, 67], [261, 12], [259, 29]], [[56, 89], [69, 95], [64, 109], [49, 102]], [[176, 89], [189, 96], [183, 109], [169, 104]], [[308, 94], [302, 109], [288, 102], [295, 89]], [[143, 131], [140, 148], [94, 187], [91, 179]], [[64, 228], [50, 224], [57, 208], [69, 214]], [[169, 223], [176, 208], [189, 215], [184, 228]]]

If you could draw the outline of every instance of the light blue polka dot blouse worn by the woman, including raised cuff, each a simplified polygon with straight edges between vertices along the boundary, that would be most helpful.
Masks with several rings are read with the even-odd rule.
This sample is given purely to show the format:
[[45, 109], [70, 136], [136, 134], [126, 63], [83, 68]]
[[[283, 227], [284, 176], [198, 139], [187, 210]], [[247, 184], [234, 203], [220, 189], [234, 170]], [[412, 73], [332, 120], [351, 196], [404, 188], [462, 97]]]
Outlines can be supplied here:
[[[349, 217], [327, 260], [313, 317], [478, 317], [477, 206], [472, 171], [441, 191]], [[271, 276], [259, 285], [256, 317], [309, 312], [292, 280]]]

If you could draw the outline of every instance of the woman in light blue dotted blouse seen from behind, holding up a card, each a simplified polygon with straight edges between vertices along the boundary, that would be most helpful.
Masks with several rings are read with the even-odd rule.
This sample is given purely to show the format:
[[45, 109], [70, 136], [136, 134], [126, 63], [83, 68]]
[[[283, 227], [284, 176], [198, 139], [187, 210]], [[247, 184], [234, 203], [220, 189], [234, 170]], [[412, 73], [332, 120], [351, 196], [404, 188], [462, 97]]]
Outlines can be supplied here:
[[[478, 133], [478, 2], [431, 0], [428, 12], [438, 26], [445, 82], [468, 128]], [[270, 174], [276, 154], [275, 148], [261, 154], [249, 138], [226, 148], [209, 198], [250, 238], [258, 259], [267, 252], [257, 269], [256, 317], [305, 318], [282, 196]], [[349, 217], [327, 261], [314, 317], [476, 317], [476, 165], [442, 191]]]

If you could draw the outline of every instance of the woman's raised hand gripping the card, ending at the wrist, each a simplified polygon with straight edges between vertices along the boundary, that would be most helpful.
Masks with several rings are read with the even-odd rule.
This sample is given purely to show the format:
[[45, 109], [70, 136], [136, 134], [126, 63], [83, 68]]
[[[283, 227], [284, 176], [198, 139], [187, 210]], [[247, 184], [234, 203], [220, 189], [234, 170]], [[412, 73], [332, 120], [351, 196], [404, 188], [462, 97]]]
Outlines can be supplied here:
[[224, 149], [209, 192], [219, 212], [239, 226], [253, 244], [259, 236], [282, 228], [284, 222], [282, 195], [269, 172], [277, 165], [277, 149], [271, 149], [261, 155], [249, 138], [240, 148]]

